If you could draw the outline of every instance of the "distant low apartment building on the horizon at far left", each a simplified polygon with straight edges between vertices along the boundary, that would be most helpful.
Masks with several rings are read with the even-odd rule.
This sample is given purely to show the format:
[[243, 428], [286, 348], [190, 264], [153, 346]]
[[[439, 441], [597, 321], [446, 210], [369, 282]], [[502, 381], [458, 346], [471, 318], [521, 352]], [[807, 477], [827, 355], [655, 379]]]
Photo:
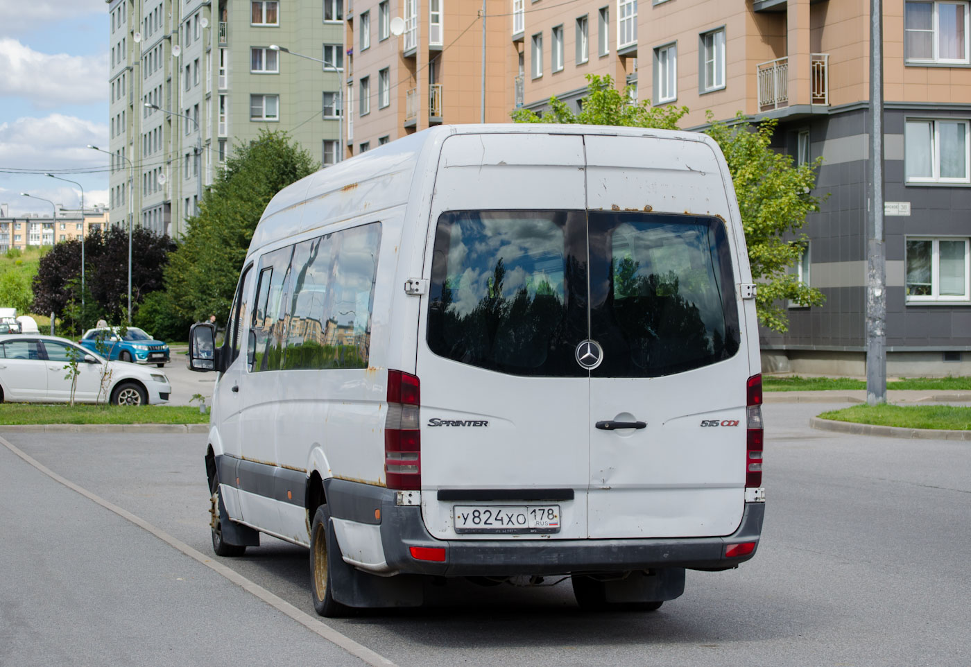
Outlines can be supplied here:
[[0, 252], [52, 246], [108, 227], [108, 210], [100, 206], [85, 209], [84, 218], [81, 209], [65, 209], [60, 204], [50, 213], [51, 216], [11, 216], [7, 204], [0, 204]]

